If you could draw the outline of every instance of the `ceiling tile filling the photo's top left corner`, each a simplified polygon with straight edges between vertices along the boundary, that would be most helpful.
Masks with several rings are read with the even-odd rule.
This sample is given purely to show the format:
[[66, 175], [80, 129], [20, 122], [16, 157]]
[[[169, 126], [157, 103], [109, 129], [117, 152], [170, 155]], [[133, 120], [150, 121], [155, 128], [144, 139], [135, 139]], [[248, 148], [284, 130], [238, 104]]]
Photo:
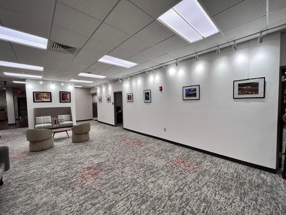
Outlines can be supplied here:
[[54, 0], [1, 0], [1, 7], [51, 23]]

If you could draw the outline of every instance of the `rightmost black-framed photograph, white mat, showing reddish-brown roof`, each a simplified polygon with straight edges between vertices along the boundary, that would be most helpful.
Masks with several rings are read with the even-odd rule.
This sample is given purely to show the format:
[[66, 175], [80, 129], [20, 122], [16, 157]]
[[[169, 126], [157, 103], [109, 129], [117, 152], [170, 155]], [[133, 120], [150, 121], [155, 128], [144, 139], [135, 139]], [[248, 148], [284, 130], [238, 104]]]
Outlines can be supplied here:
[[264, 98], [265, 77], [233, 81], [233, 98]]

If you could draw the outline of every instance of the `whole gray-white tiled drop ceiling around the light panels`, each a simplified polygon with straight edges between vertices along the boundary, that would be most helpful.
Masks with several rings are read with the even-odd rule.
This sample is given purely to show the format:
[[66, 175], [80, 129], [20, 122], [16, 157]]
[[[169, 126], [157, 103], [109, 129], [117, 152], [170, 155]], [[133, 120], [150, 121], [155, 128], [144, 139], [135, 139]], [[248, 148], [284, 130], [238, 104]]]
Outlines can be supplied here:
[[[0, 67], [1, 81], [23, 81], [3, 72], [42, 75], [83, 87], [122, 77], [286, 23], [285, 0], [198, 0], [219, 33], [192, 44], [156, 21], [179, 0], [1, 1], [0, 25], [75, 47], [76, 56], [0, 40], [0, 61], [44, 67], [42, 71]], [[105, 55], [139, 65], [124, 68], [97, 62]], [[104, 79], [78, 76], [91, 72]], [[1, 82], [0, 82], [1, 83]], [[2, 82], [3, 83], [3, 82]], [[22, 84], [10, 84], [23, 88]]]

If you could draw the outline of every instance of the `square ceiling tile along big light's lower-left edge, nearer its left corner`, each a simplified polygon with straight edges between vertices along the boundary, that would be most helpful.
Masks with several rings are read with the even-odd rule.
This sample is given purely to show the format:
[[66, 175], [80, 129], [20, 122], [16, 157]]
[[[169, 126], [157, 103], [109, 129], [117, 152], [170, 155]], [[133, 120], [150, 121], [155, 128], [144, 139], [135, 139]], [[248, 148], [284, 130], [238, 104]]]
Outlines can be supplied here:
[[159, 24], [157, 21], [153, 21], [134, 36], [154, 45], [172, 35], [174, 35], [174, 33], [172, 33], [170, 30]]

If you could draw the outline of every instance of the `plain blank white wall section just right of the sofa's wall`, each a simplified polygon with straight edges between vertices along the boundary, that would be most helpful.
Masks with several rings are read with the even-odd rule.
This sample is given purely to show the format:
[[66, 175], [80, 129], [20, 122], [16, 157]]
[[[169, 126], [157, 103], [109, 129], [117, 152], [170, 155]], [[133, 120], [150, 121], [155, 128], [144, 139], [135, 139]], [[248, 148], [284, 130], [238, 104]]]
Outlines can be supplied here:
[[92, 95], [89, 88], [74, 88], [75, 111], [78, 120], [92, 119]]

